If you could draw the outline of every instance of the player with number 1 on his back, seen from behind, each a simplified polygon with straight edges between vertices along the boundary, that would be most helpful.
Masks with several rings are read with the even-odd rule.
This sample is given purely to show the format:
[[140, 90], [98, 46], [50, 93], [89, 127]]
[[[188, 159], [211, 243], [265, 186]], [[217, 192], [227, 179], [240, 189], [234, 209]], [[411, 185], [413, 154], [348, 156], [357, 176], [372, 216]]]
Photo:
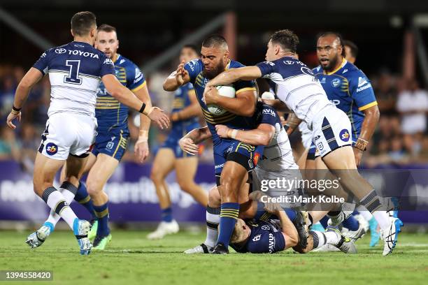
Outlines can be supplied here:
[[[7, 124], [15, 129], [13, 120], [20, 120], [20, 110], [31, 87], [49, 73], [52, 98], [49, 119], [34, 163], [34, 192], [70, 226], [78, 240], [80, 254], [90, 254], [92, 244], [87, 238], [90, 223], [78, 219], [69, 203], [76, 194], [94, 142], [97, 127], [94, 113], [100, 80], [118, 101], [152, 116], [160, 126], [167, 126], [169, 119], [162, 110], [147, 110], [145, 103], [117, 80], [113, 62], [92, 47], [97, 35], [93, 13], [73, 15], [71, 34], [73, 42], [43, 52], [34, 67], [24, 75], [17, 87]], [[53, 180], [64, 162], [67, 165], [66, 177], [60, 187], [62, 191], [58, 191], [53, 187]], [[37, 233], [34, 235], [37, 238]]]

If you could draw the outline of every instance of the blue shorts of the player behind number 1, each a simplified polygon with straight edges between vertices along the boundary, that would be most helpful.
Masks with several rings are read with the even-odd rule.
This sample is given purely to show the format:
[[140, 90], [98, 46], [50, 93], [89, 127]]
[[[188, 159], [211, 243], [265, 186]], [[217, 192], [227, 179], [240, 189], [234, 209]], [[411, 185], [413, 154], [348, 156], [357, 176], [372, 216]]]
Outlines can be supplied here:
[[107, 154], [120, 161], [127, 150], [129, 133], [98, 133], [92, 154]]

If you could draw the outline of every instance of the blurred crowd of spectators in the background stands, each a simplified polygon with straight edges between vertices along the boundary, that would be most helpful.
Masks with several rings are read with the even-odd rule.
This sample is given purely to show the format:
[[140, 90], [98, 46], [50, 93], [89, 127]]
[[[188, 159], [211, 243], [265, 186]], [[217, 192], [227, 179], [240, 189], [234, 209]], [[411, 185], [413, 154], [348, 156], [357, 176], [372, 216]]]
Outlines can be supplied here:
[[[17, 83], [24, 76], [24, 68], [20, 66], [0, 65], [0, 116], [1, 122], [13, 105], [13, 97]], [[363, 163], [368, 167], [381, 164], [428, 163], [428, 92], [416, 80], [403, 80], [399, 73], [388, 70], [376, 74], [368, 74], [375, 90], [380, 121], [364, 155]], [[171, 110], [173, 94], [162, 90], [162, 82], [168, 73], [153, 73], [148, 78], [150, 96], [154, 105], [166, 112]], [[15, 131], [1, 124], [0, 160], [18, 161], [24, 170], [32, 171], [36, 149], [41, 142], [41, 133], [45, 128], [50, 103], [50, 84], [48, 77], [31, 90], [27, 103], [22, 110], [22, 122]], [[129, 115], [131, 142], [124, 161], [134, 161], [134, 147], [138, 136], [138, 128], [134, 122], [138, 114]], [[150, 163], [155, 152], [162, 144], [168, 130], [161, 131], [156, 126], [150, 129]], [[292, 142], [299, 147], [299, 134], [294, 134]], [[201, 145], [200, 159], [213, 161], [211, 142]]]

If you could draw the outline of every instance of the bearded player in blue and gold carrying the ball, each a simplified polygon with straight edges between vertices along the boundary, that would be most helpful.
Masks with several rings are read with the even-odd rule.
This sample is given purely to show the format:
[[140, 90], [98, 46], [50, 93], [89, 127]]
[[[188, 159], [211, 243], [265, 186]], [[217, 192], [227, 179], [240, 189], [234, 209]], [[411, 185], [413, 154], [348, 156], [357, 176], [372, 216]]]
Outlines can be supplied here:
[[[226, 40], [220, 35], [208, 36], [202, 43], [201, 59], [185, 64], [183, 61], [177, 70], [166, 78], [164, 89], [175, 91], [178, 87], [191, 82], [197, 94], [199, 105], [206, 119], [208, 129], [213, 136], [213, 154], [215, 163], [215, 177], [222, 194], [220, 213], [220, 234], [214, 254], [227, 254], [231, 233], [238, 218], [239, 204], [238, 191], [248, 180], [248, 173], [255, 167], [255, 145], [248, 145], [239, 140], [221, 139], [215, 132], [215, 125], [225, 124], [236, 129], [254, 129], [253, 116], [256, 105], [255, 82], [238, 80], [232, 85], [236, 92], [235, 98], [225, 96], [216, 101], [226, 112], [222, 115], [213, 115], [203, 100], [206, 82], [226, 69], [234, 69], [243, 65], [229, 59], [229, 50]], [[218, 95], [217, 89], [213, 94]]]

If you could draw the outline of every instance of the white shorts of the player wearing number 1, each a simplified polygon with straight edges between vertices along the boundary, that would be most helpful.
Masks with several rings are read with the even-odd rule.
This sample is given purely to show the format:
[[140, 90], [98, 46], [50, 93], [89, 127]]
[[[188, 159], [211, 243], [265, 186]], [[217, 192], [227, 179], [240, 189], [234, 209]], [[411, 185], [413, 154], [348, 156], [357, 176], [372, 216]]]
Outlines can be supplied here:
[[38, 152], [50, 159], [66, 160], [69, 154], [87, 156], [97, 134], [95, 117], [56, 113], [49, 117]]

